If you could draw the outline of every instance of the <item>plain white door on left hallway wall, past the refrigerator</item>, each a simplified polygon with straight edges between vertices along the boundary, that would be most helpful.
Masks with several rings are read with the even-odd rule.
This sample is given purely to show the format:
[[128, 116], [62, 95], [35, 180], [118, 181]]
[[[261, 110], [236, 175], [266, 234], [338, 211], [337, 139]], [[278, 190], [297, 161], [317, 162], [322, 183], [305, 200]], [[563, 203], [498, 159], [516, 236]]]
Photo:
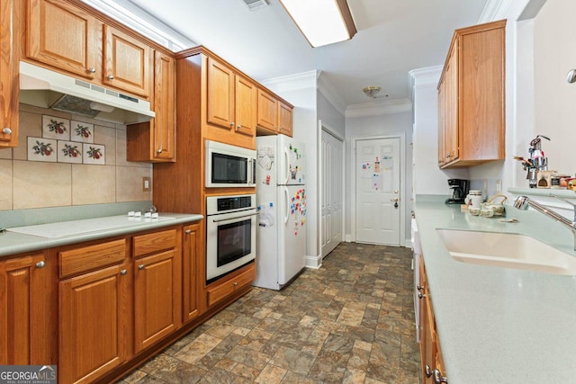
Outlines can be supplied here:
[[322, 257], [342, 241], [344, 143], [322, 129], [321, 135]]

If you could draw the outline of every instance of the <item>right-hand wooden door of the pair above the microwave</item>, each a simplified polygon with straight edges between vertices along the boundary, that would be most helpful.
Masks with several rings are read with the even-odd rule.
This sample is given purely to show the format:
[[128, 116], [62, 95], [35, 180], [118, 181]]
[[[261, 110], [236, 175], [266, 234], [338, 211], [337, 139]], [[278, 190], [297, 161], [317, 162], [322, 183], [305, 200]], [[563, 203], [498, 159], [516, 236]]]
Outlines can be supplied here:
[[247, 136], [256, 136], [256, 110], [258, 91], [254, 83], [236, 75], [236, 131]]

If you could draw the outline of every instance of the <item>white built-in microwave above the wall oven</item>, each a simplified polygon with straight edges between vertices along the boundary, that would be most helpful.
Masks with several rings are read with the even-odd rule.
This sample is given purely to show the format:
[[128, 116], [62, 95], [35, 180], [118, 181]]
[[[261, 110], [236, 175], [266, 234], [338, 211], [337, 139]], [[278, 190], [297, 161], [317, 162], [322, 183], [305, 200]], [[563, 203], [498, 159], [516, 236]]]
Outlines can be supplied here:
[[206, 188], [256, 186], [256, 151], [206, 140]]

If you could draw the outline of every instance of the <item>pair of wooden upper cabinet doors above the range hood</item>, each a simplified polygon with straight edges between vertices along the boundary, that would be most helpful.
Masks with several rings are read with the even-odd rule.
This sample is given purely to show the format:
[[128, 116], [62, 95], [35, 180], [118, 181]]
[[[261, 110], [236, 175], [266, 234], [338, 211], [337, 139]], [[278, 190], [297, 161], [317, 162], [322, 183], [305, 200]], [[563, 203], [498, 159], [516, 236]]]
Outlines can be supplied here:
[[26, 56], [148, 98], [154, 49], [64, 0], [28, 0]]

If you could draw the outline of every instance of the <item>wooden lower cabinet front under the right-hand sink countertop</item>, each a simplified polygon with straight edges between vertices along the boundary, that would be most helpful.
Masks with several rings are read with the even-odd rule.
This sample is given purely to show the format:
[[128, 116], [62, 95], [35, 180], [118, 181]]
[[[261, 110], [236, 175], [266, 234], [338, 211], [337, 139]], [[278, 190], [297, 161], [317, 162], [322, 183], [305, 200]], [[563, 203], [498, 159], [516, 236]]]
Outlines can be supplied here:
[[426, 268], [424, 259], [420, 256], [419, 263], [419, 299], [420, 299], [420, 371], [423, 384], [436, 384], [448, 382], [446, 371], [444, 370], [444, 361], [440, 342], [437, 335], [436, 320], [432, 301], [430, 299], [430, 290], [428, 290], [428, 281], [426, 277]]

